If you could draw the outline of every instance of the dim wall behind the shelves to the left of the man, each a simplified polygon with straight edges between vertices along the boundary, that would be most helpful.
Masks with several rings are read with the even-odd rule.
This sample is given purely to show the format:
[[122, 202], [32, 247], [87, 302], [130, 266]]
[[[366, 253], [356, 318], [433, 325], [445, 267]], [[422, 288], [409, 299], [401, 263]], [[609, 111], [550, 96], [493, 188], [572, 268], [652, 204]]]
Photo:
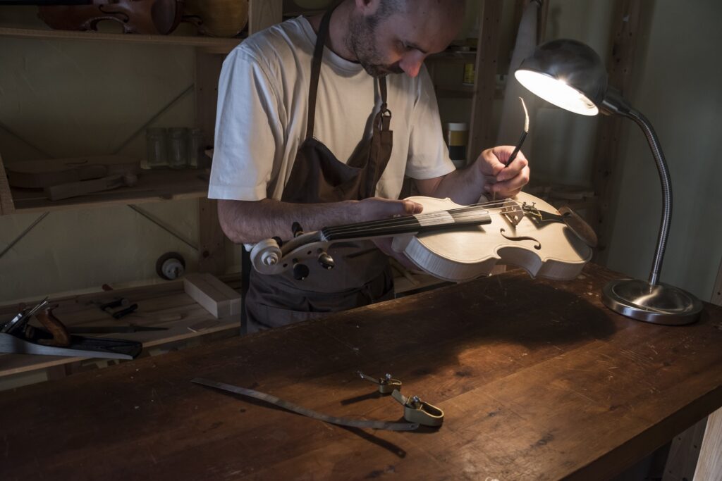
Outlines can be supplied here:
[[[40, 27], [35, 7], [2, 7], [1, 25]], [[142, 159], [131, 135], [193, 84], [193, 49], [0, 40], [0, 154], [5, 162], [118, 153]], [[193, 89], [152, 125], [193, 126]], [[126, 140], [129, 143], [119, 149]], [[197, 243], [197, 201], [141, 208]], [[0, 252], [40, 213], [0, 216]], [[155, 261], [197, 252], [127, 206], [53, 211], [0, 258], [0, 302], [160, 281]]]

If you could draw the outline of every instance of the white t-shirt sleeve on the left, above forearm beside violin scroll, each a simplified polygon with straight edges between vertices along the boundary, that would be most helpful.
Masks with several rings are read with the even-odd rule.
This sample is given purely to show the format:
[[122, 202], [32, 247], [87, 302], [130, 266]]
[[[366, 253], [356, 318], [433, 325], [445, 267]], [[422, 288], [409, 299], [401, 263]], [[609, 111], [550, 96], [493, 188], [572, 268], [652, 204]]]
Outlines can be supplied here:
[[208, 197], [267, 197], [274, 158], [282, 152], [279, 99], [267, 70], [252, 52], [233, 50], [223, 62]]

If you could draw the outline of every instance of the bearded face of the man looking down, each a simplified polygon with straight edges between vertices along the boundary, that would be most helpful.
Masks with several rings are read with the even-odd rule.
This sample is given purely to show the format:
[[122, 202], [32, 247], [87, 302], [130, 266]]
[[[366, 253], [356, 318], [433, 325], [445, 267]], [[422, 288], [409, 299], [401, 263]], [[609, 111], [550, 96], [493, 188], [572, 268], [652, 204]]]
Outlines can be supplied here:
[[406, 72], [415, 77], [426, 56], [444, 50], [456, 35], [463, 12], [453, 10], [414, 1], [408, 12], [385, 18], [378, 12], [355, 14], [347, 46], [371, 76]]

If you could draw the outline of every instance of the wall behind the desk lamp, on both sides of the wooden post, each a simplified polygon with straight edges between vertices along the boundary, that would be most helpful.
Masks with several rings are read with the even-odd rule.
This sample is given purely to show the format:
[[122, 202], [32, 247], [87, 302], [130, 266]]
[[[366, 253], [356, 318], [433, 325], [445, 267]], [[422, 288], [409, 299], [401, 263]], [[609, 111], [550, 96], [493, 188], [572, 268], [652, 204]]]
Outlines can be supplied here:
[[[552, 0], [547, 40], [574, 38], [606, 58], [614, 2]], [[644, 1], [642, 27], [625, 94], [652, 123], [672, 179], [674, 209], [661, 281], [703, 300], [712, 294], [722, 259], [722, 4]], [[538, 104], [531, 121], [532, 182], [591, 188], [596, 129], [604, 116], [585, 117]], [[649, 276], [661, 219], [661, 187], [643, 132], [623, 120], [619, 168], [614, 172], [609, 244], [604, 263], [637, 278]]]

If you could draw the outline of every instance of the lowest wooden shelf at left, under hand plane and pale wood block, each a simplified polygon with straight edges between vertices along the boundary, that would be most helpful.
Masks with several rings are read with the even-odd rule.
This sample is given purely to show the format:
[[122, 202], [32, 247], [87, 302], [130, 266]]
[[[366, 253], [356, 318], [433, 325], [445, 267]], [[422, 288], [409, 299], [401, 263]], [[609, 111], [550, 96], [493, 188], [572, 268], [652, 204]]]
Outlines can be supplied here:
[[[223, 278], [223, 281], [231, 288], [238, 289], [240, 287], [240, 277], [238, 275], [227, 276]], [[108, 302], [118, 297], [128, 299], [131, 304], [138, 304], [136, 312], [116, 320], [110, 314], [101, 311], [97, 304], [94, 304]], [[240, 316], [216, 319], [200, 304], [196, 304], [196, 301], [193, 301], [191, 296], [186, 294], [182, 280], [168, 281], [154, 286], [117, 289], [95, 294], [51, 299], [50, 304], [58, 304], [58, 307], [53, 310], [53, 314], [67, 327], [84, 325], [123, 326], [129, 323], [142, 326], [168, 327], [168, 330], [162, 331], [87, 335], [87, 337], [136, 340], [143, 343], [144, 351], [147, 348], [169, 345], [196, 337], [210, 335], [217, 337], [224, 334], [230, 337], [238, 335], [240, 332]], [[17, 304], [0, 306], [0, 323], [12, 319], [17, 312]], [[31, 325], [37, 325], [35, 323], [34, 320], [30, 321]], [[197, 332], [188, 329], [200, 323], [208, 326]], [[53, 366], [76, 363], [85, 359], [88, 358], [0, 354], [0, 378], [12, 374], [39, 371]]]

